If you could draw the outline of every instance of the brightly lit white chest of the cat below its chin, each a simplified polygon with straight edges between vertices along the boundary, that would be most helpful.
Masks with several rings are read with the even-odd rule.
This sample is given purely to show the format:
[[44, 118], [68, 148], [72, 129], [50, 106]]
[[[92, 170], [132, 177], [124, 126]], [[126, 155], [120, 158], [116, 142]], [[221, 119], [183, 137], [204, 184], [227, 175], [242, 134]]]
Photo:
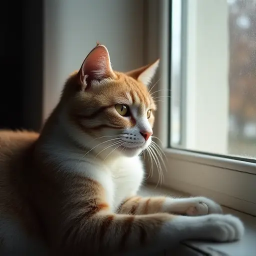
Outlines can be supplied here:
[[116, 208], [125, 197], [137, 192], [143, 181], [144, 171], [142, 162], [137, 157], [115, 163], [111, 173], [113, 206]]

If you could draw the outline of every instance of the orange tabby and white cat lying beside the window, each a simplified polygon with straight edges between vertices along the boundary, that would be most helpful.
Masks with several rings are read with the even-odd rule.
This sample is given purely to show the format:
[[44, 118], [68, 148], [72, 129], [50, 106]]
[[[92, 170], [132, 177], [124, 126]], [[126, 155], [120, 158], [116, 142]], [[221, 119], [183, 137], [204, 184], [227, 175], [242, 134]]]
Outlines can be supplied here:
[[148, 255], [184, 239], [242, 237], [242, 222], [211, 199], [137, 195], [158, 63], [113, 71], [97, 43], [40, 134], [0, 132], [0, 255]]

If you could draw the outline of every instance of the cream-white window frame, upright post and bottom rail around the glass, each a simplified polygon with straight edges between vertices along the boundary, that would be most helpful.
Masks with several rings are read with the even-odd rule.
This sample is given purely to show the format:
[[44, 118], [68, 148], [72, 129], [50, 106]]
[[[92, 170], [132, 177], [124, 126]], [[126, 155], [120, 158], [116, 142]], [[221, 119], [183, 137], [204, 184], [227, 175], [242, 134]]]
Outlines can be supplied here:
[[[169, 3], [171, 0], [147, 1], [146, 61], [160, 56], [160, 68], [154, 86], [159, 94], [166, 95], [169, 87], [170, 27]], [[251, 215], [256, 215], [256, 163], [242, 158], [227, 158], [203, 152], [168, 147], [168, 98], [159, 101], [154, 134], [162, 141], [167, 158], [167, 172], [163, 170], [162, 186], [192, 195], [208, 196], [218, 203]], [[155, 141], [157, 142], [157, 141]], [[150, 169], [147, 161], [147, 170]], [[156, 167], [149, 182], [159, 179]]]

